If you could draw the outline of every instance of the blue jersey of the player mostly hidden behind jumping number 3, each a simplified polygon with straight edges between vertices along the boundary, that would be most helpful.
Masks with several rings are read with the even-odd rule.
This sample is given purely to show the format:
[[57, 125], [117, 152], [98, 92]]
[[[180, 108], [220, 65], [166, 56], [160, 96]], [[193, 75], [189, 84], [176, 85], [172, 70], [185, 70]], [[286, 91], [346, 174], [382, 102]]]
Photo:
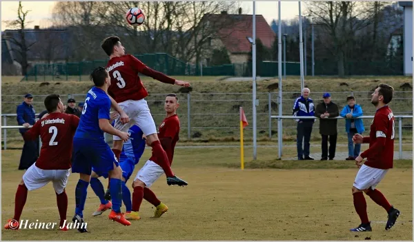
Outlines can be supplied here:
[[122, 147], [121, 157], [119, 157], [120, 162], [126, 160], [128, 157], [132, 157], [135, 159], [135, 164], [139, 162], [141, 159], [142, 154], [145, 150], [146, 142], [142, 139], [142, 135], [144, 132], [137, 126], [133, 125], [128, 132], [130, 133], [130, 138], [128, 141], [124, 142], [124, 146]]

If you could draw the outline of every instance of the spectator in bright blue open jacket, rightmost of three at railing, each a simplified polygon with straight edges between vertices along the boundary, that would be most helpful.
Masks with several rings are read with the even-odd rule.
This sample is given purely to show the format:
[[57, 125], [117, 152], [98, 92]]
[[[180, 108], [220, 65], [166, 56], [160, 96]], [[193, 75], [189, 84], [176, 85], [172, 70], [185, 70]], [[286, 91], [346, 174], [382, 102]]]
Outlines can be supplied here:
[[353, 143], [353, 136], [355, 134], [362, 134], [365, 131], [364, 122], [362, 119], [355, 119], [364, 115], [360, 105], [355, 103], [355, 97], [348, 96], [346, 97], [348, 105], [346, 105], [341, 112], [341, 117], [345, 118], [345, 131], [348, 134], [348, 158], [347, 161], [353, 161], [359, 156], [359, 151], [361, 150], [360, 143]]

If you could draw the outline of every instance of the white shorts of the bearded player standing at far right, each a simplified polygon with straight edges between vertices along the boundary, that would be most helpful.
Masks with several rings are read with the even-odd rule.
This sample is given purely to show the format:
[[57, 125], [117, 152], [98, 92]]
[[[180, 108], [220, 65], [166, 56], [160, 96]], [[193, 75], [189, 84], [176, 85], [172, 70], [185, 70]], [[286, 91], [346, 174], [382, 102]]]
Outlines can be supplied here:
[[374, 190], [378, 183], [384, 179], [386, 172], [388, 172], [388, 170], [362, 165], [362, 167], [359, 168], [357, 177], [355, 177], [353, 186], [358, 190], [366, 190], [368, 188]]

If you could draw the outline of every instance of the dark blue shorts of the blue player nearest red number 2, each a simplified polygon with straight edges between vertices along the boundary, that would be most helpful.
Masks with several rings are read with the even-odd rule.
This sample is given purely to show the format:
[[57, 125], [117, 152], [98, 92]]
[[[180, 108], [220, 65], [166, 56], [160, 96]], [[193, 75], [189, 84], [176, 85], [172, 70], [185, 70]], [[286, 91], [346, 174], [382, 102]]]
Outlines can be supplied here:
[[114, 164], [119, 166], [117, 157], [105, 141], [73, 138], [72, 173], [91, 174], [109, 172]]

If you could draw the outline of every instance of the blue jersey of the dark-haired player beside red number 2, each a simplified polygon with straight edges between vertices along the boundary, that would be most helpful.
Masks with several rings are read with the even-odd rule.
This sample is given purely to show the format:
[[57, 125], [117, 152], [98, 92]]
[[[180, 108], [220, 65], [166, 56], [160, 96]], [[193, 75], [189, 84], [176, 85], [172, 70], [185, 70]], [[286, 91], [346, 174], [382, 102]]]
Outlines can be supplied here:
[[75, 138], [103, 141], [103, 131], [99, 128], [99, 119], [110, 119], [110, 105], [110, 99], [106, 92], [100, 88], [91, 88], [86, 95]]

